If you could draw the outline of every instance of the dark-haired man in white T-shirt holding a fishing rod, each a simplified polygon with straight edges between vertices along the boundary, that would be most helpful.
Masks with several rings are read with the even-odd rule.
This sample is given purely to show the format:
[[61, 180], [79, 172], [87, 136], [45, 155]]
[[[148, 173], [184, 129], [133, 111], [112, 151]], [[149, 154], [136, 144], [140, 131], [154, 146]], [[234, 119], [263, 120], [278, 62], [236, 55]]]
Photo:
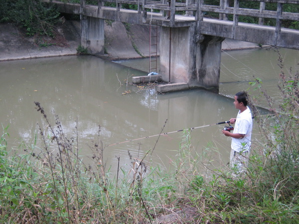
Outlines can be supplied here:
[[247, 103], [248, 95], [245, 91], [235, 95], [234, 105], [239, 112], [236, 118], [229, 120], [231, 124], [235, 123], [233, 133], [222, 130], [225, 136], [232, 137], [230, 166], [237, 174], [246, 171], [251, 146], [252, 115]]

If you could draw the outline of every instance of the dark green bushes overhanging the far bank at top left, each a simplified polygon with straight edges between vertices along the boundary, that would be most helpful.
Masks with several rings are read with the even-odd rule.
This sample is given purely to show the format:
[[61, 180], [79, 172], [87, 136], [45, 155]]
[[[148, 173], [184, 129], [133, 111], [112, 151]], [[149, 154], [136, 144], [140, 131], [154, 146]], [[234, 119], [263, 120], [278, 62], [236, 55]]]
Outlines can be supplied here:
[[0, 0], [0, 23], [13, 23], [39, 47], [67, 46], [57, 25], [65, 22], [56, 6], [42, 0]]

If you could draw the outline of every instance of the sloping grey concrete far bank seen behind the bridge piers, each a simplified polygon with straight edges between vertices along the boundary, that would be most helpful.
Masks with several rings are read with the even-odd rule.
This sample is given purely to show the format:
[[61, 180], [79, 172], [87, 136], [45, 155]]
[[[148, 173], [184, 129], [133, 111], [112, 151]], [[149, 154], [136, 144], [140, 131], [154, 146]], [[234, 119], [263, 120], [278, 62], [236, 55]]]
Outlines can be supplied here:
[[[25, 30], [5, 23], [0, 24], [0, 61], [76, 55], [80, 39], [80, 21], [65, 21], [56, 26], [52, 38], [27, 37]], [[258, 48], [256, 43], [225, 39], [222, 50]], [[110, 60], [149, 56], [149, 25], [105, 22], [105, 51]]]

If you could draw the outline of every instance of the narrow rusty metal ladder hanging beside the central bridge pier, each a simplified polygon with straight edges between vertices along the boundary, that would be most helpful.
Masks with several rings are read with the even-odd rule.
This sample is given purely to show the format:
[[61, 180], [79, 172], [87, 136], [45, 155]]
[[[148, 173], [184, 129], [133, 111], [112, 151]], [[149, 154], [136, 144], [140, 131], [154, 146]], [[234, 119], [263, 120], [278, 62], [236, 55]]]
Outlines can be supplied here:
[[149, 73], [157, 72], [158, 27], [149, 24]]

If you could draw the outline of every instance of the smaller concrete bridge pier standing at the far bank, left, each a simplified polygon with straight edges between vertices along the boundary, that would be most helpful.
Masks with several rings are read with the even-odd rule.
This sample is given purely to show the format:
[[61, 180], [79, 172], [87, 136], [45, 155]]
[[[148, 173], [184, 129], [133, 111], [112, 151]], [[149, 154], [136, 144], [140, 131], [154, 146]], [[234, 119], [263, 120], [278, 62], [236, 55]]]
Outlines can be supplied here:
[[81, 45], [91, 54], [104, 54], [104, 19], [81, 16]]

